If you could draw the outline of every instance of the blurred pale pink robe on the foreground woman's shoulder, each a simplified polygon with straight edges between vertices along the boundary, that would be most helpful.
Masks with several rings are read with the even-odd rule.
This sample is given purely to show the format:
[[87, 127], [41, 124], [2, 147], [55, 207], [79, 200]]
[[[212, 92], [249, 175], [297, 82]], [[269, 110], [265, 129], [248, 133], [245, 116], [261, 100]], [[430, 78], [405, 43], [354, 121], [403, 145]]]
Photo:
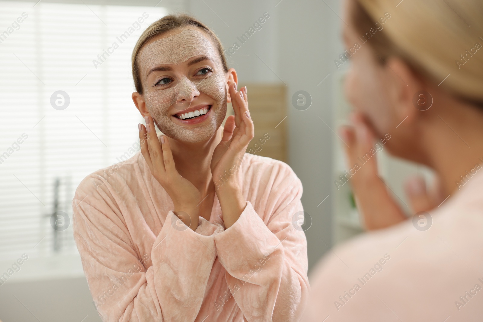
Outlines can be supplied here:
[[329, 251], [302, 321], [483, 321], [483, 172], [466, 180], [426, 231], [418, 216]]

